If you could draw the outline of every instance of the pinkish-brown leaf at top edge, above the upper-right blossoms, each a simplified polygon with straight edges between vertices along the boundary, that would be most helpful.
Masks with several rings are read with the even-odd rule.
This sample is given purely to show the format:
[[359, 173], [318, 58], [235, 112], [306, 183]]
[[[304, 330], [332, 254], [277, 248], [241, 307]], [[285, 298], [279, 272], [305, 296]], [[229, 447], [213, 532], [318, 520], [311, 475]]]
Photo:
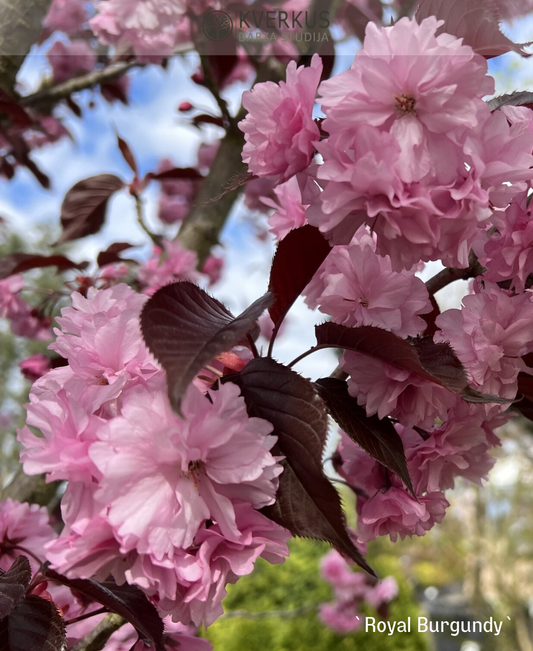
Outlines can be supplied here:
[[437, 34], [447, 32], [462, 38], [465, 45], [487, 59], [506, 52], [524, 52], [500, 31], [500, 16], [492, 0], [423, 0], [416, 12], [420, 23], [428, 16], [444, 20]]

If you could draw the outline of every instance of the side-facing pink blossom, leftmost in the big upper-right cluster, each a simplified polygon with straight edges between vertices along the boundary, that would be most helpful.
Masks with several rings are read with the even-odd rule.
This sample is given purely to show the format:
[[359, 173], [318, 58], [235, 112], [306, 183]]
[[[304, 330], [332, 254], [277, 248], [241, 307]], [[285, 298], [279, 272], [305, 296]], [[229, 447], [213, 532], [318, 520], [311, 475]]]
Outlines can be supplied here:
[[313, 106], [322, 63], [313, 56], [311, 67], [287, 66], [287, 81], [257, 84], [243, 94], [248, 115], [239, 123], [246, 144], [243, 161], [257, 176], [287, 181], [309, 166], [318, 127], [313, 121]]

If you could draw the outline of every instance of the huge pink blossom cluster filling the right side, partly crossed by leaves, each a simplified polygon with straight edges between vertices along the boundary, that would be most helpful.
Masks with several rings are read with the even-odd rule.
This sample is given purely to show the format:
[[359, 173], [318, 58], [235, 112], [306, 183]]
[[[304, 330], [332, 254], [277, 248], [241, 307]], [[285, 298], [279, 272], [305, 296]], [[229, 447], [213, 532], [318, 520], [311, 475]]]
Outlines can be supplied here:
[[[309, 68], [289, 66], [287, 83], [243, 98], [243, 161], [275, 186], [263, 198], [272, 232], [310, 223], [333, 246], [307, 304], [344, 326], [449, 343], [470, 387], [494, 397], [469, 404], [393, 360], [344, 352], [350, 395], [368, 417], [396, 423], [412, 479], [407, 487], [343, 435], [337, 469], [357, 493], [362, 541], [424, 535], [455, 478], [486, 479], [494, 430], [511, 417], [519, 374], [531, 373], [533, 112], [491, 111], [486, 60], [441, 25], [369, 23], [348, 71], [319, 83], [315, 55]], [[471, 293], [435, 315], [415, 273], [431, 260], [467, 268], [472, 252]]]

